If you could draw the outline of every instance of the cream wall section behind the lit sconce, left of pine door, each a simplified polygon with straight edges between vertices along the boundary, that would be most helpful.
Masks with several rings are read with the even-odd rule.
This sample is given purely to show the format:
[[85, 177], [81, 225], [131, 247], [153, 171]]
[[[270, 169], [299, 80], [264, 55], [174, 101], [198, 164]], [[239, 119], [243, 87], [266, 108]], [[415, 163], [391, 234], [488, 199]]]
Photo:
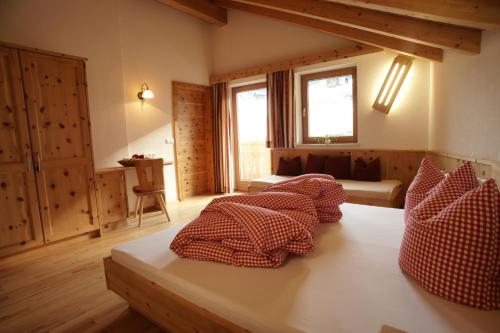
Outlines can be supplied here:
[[[172, 81], [208, 85], [213, 27], [158, 1], [121, 0], [119, 9], [129, 153], [173, 161], [173, 144], [165, 143], [173, 138]], [[155, 98], [141, 109], [137, 92], [143, 82]], [[172, 201], [177, 198], [175, 166], [164, 170]]]

